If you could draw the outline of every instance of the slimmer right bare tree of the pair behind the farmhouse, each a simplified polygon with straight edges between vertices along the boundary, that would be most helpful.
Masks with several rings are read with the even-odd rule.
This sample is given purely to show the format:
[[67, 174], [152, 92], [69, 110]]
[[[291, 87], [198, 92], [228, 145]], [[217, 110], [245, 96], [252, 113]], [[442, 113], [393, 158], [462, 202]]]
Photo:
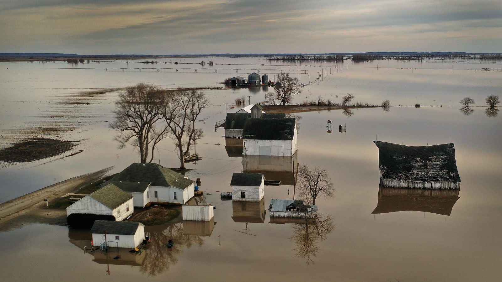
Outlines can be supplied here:
[[178, 148], [180, 169], [185, 169], [184, 152], [188, 151], [194, 137], [202, 136], [202, 130], [195, 127], [195, 122], [209, 104], [209, 100], [203, 92], [195, 90], [174, 92], [170, 94], [169, 99], [163, 116], [167, 122], [169, 136]]

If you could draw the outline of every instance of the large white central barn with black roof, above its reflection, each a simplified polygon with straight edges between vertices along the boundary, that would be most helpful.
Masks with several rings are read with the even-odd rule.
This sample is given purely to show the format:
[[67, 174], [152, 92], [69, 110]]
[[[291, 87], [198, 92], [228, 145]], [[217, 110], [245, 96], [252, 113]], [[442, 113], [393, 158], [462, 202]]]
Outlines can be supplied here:
[[244, 154], [293, 156], [298, 147], [295, 118], [250, 118], [242, 130]]

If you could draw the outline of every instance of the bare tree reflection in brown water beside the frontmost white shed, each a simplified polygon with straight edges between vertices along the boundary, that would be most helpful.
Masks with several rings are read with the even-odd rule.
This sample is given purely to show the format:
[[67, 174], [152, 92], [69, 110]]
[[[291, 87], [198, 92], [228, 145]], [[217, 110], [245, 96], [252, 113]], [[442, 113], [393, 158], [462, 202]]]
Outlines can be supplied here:
[[[140, 271], [156, 276], [163, 273], [171, 265], [178, 262], [176, 257], [185, 248], [193, 245], [202, 246], [204, 239], [199, 235], [186, 235], [183, 232], [183, 222], [169, 225], [165, 230], [150, 231], [150, 242], [145, 246], [145, 260]], [[171, 248], [167, 247], [169, 239], [175, 243]]]

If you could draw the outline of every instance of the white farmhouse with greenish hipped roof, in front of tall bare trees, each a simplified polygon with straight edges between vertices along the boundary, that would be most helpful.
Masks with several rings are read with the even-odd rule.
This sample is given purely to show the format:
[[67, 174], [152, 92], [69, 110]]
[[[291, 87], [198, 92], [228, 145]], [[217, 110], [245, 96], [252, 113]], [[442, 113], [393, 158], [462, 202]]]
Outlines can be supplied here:
[[130, 193], [136, 207], [150, 202], [185, 204], [194, 196], [195, 181], [158, 164], [134, 163], [109, 183]]

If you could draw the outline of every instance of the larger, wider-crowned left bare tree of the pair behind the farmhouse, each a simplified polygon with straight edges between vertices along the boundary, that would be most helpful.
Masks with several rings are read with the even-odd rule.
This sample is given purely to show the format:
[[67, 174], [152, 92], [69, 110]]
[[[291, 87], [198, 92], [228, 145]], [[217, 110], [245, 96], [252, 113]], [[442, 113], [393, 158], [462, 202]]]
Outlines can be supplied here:
[[164, 91], [157, 86], [139, 83], [118, 95], [115, 118], [109, 127], [118, 131], [119, 148], [128, 143], [140, 151], [142, 163], [151, 163], [154, 150], [167, 137], [162, 108], [168, 103]]

